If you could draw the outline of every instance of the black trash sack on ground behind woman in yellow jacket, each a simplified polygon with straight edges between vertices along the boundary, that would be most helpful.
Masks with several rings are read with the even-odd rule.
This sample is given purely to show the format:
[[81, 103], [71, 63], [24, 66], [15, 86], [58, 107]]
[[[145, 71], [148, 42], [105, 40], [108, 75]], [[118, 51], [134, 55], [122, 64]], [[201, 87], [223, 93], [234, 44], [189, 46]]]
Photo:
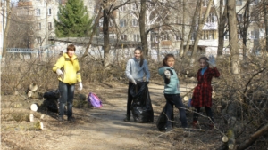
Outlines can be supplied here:
[[47, 110], [58, 113], [58, 99], [60, 98], [60, 92], [58, 90], [55, 91], [46, 91], [43, 95], [45, 100], [43, 101], [42, 106], [46, 107]]

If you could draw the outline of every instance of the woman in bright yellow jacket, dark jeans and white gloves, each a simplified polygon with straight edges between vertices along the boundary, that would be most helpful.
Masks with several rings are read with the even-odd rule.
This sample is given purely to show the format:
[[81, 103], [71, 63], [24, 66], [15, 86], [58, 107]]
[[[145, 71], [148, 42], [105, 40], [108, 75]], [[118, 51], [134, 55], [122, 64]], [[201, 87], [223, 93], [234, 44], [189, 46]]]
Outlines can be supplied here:
[[79, 90], [82, 90], [82, 80], [80, 75], [80, 64], [77, 56], [74, 54], [75, 46], [70, 44], [67, 46], [67, 52], [63, 53], [53, 67], [53, 71], [58, 75], [59, 91], [61, 97], [59, 99], [59, 118], [60, 122], [64, 121], [64, 107], [67, 102], [68, 121], [74, 121], [72, 116], [72, 101], [74, 95], [74, 85], [79, 82]]

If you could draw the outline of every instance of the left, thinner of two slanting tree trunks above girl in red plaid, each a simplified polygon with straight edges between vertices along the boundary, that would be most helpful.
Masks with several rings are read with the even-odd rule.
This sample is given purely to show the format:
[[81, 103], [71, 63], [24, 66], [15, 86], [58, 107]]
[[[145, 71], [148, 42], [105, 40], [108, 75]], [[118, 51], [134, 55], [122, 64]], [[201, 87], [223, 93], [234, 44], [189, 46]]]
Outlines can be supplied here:
[[189, 31], [189, 34], [188, 34], [188, 39], [187, 39], [187, 43], [186, 43], [186, 46], [185, 46], [185, 50], [183, 52], [183, 56], [185, 57], [186, 54], [188, 53], [188, 47], [189, 47], [189, 41], [191, 39], [191, 36], [194, 32], [194, 29], [196, 28], [196, 20], [197, 20], [197, 14], [198, 14], [198, 11], [200, 10], [200, 3], [201, 1], [198, 1], [197, 0], [197, 6], [196, 6], [196, 11], [194, 13], [194, 16], [193, 16], [193, 20], [192, 20], [192, 24], [191, 24], [191, 28], [190, 28], [190, 31]]

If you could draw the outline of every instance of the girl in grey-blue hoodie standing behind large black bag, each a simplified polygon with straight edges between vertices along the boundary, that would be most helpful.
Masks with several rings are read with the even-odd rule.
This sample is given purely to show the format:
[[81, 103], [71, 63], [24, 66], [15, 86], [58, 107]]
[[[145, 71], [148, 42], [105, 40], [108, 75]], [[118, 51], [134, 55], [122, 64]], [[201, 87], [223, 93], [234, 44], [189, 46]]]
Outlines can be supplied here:
[[124, 119], [125, 122], [130, 122], [130, 107], [132, 103], [132, 96], [130, 94], [130, 87], [137, 82], [149, 82], [150, 72], [147, 65], [147, 60], [143, 58], [141, 48], [138, 47], [134, 51], [134, 58], [128, 60], [126, 67], [126, 76], [129, 79], [129, 90], [128, 90], [128, 103], [127, 103], [127, 115]]

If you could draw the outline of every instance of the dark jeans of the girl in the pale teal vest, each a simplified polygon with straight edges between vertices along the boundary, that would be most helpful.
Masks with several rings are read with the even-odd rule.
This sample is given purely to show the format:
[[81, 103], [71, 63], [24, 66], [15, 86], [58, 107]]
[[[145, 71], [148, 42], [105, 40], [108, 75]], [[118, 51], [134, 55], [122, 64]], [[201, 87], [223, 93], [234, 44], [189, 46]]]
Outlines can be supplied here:
[[166, 127], [172, 127], [172, 112], [173, 112], [173, 105], [177, 107], [180, 111], [180, 122], [182, 128], [187, 128], [188, 123], [186, 119], [185, 107], [181, 101], [180, 94], [164, 94], [164, 98], [166, 99], [166, 115], [168, 117], [168, 121], [166, 122]]

